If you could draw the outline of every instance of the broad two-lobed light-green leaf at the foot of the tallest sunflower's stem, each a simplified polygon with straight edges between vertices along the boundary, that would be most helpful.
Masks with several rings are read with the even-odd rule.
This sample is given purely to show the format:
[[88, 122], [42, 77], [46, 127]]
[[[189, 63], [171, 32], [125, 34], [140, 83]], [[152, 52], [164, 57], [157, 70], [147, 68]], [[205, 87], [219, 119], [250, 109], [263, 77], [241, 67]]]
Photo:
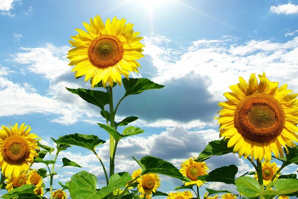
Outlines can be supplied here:
[[96, 190], [96, 177], [86, 171], [75, 174], [69, 182], [69, 191], [72, 199], [103, 199], [116, 189], [126, 186], [131, 180], [127, 172], [111, 176], [109, 185]]

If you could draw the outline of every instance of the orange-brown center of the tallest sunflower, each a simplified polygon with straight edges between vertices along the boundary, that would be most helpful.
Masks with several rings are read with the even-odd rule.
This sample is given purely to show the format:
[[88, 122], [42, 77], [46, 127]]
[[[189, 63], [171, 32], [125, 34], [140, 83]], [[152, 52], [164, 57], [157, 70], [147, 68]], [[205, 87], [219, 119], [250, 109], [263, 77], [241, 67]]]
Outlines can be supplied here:
[[120, 62], [123, 52], [123, 45], [117, 37], [101, 35], [90, 44], [88, 57], [93, 66], [105, 69]]

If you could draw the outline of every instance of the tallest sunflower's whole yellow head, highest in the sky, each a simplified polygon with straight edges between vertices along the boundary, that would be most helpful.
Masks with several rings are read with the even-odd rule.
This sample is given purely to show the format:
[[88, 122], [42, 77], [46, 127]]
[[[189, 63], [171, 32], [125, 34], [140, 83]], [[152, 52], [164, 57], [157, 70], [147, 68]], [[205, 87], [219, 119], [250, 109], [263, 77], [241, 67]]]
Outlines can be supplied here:
[[129, 72], [139, 72], [140, 64], [135, 61], [144, 57], [143, 44], [138, 37], [140, 32], [134, 32], [133, 24], [126, 23], [126, 19], [108, 18], [103, 24], [99, 15], [90, 18], [90, 24], [83, 22], [87, 31], [75, 29], [78, 34], [70, 41], [73, 49], [68, 53], [74, 76], [85, 75], [85, 81], [92, 78], [92, 88], [102, 81], [105, 87], [113, 82], [121, 85], [121, 75], [128, 79]]

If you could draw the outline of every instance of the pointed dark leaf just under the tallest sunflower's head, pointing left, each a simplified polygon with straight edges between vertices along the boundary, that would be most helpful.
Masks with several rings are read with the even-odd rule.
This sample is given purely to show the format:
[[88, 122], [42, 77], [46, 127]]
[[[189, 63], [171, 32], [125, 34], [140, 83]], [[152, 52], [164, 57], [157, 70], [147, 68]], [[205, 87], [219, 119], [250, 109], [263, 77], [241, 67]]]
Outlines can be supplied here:
[[78, 95], [83, 100], [100, 107], [102, 110], [104, 110], [104, 105], [110, 102], [110, 96], [106, 92], [89, 89], [66, 89], [73, 94]]

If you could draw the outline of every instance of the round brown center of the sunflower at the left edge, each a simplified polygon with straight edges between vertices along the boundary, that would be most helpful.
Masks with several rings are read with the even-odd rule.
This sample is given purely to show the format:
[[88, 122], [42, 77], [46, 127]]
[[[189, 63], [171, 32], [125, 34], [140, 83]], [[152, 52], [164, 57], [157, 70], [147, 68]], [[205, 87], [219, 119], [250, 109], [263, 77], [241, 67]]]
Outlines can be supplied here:
[[20, 135], [11, 135], [1, 145], [3, 159], [9, 164], [19, 164], [30, 155], [28, 142]]

